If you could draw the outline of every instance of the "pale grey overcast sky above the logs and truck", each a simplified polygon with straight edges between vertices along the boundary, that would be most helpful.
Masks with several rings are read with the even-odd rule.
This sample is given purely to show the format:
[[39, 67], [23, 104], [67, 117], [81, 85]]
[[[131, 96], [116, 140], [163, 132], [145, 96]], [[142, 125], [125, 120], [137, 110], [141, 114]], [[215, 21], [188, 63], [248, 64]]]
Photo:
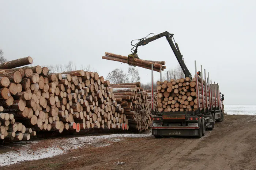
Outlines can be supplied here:
[[[31, 56], [34, 65], [91, 64], [106, 78], [128, 65], [103, 60], [105, 52], [128, 55], [131, 40], [168, 31], [190, 72], [196, 60], [219, 83], [225, 104], [256, 104], [255, 8], [255, 0], [0, 0], [0, 48], [8, 60]], [[178, 64], [165, 37], [138, 55]], [[151, 71], [137, 68], [150, 82]]]

